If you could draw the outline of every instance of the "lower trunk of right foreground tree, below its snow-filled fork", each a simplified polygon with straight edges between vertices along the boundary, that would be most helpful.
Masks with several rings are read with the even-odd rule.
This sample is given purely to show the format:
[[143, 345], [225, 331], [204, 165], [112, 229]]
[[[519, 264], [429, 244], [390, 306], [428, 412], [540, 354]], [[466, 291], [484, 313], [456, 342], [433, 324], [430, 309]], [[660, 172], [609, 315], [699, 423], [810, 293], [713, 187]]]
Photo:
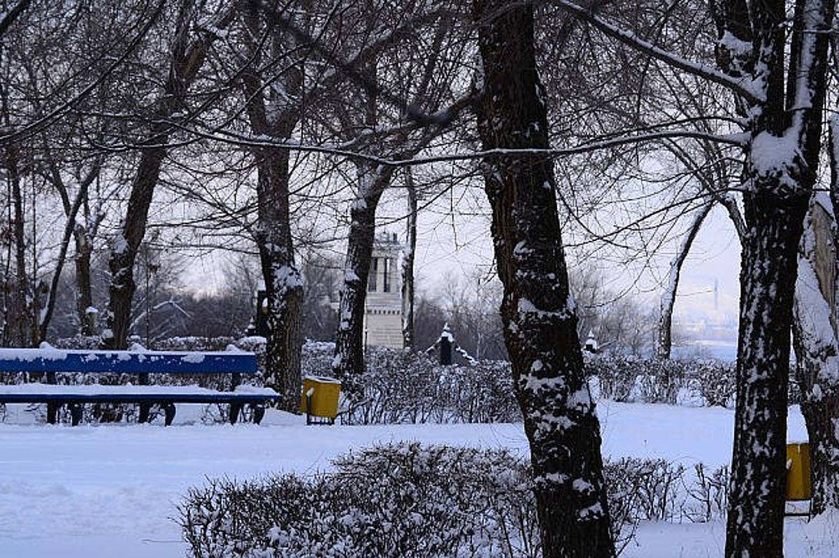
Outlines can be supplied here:
[[789, 333], [807, 196], [769, 190], [744, 196], [728, 556], [784, 554]]

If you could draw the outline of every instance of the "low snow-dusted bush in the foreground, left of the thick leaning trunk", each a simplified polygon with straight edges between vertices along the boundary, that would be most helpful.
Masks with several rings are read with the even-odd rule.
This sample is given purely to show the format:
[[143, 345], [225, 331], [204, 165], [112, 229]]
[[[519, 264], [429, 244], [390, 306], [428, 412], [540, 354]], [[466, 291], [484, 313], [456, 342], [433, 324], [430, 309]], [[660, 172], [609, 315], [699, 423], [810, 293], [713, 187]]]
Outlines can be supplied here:
[[508, 452], [402, 443], [334, 467], [191, 489], [180, 524], [193, 555], [539, 555], [528, 469]]

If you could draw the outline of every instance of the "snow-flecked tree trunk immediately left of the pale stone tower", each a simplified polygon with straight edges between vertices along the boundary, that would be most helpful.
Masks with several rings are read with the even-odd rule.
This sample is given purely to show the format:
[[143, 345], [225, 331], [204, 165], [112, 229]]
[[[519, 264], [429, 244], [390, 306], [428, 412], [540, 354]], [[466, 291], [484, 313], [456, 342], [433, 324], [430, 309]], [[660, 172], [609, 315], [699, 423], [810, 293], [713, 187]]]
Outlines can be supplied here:
[[364, 302], [376, 233], [376, 209], [393, 176], [392, 167], [358, 163], [357, 168], [358, 194], [350, 207], [347, 259], [344, 261], [335, 359], [332, 361], [332, 371], [341, 380], [352, 379], [364, 372]]

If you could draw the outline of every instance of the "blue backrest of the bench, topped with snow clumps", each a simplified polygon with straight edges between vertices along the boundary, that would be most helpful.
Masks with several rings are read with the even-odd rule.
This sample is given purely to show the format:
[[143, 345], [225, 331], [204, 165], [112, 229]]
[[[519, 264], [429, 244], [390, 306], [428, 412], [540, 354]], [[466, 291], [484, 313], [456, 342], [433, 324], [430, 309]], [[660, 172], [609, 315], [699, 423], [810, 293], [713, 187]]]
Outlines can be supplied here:
[[86, 351], [0, 349], [0, 372], [94, 374], [256, 374], [246, 351]]

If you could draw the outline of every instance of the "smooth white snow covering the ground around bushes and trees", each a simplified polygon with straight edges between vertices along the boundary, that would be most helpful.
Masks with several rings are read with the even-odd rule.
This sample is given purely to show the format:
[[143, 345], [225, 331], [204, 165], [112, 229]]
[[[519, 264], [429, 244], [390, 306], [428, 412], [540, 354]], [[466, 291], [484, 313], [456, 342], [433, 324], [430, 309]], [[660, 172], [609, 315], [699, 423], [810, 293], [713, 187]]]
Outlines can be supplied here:
[[[181, 495], [208, 477], [309, 473], [330, 467], [352, 447], [402, 440], [508, 447], [521, 455], [521, 425], [305, 426], [305, 418], [269, 412], [260, 426], [195, 424], [179, 406], [174, 426], [26, 424], [10, 406], [0, 424], [0, 556], [121, 558], [184, 556], [171, 518]], [[610, 457], [666, 457], [690, 466], [727, 463], [732, 412], [601, 401], [603, 451]], [[805, 440], [792, 410], [789, 440]], [[786, 555], [839, 556], [839, 516], [787, 519]], [[720, 556], [725, 524], [641, 525], [632, 558]]]

